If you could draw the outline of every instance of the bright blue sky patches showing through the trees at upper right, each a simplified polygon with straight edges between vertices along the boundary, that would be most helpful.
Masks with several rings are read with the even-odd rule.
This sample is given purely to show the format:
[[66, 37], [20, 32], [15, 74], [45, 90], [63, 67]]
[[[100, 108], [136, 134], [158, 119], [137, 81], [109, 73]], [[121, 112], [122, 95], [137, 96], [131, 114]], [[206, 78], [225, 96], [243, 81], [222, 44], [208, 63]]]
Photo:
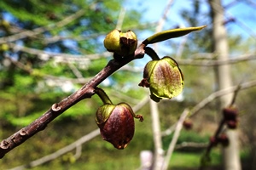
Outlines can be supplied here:
[[[147, 0], [147, 1], [139, 1], [139, 0], [125, 0], [124, 8], [126, 10], [129, 9], [137, 9], [143, 13], [143, 21], [157, 22], [160, 20], [161, 16], [164, 13], [167, 3], [170, 0]], [[251, 3], [244, 3], [245, 1]], [[186, 23], [180, 17], [180, 11], [182, 9], [190, 9], [192, 10], [192, 4], [194, 0], [173, 0], [172, 7], [167, 14], [167, 20], [164, 26], [164, 30], [172, 29], [174, 26], [184, 26], [189, 27], [189, 24]], [[207, 0], [200, 0], [202, 3], [201, 10], [208, 11], [209, 5]], [[236, 3], [234, 3], [236, 2]], [[255, 2], [255, 3], [252, 3]], [[240, 35], [244, 39], [247, 37], [253, 37], [254, 42], [256, 44], [256, 1], [255, 0], [223, 0], [222, 4], [225, 8], [225, 20], [230, 19], [231, 17], [236, 19], [236, 22], [230, 22], [226, 25], [227, 32], [229, 35]], [[227, 7], [228, 4], [231, 4]], [[202, 25], [211, 25], [210, 20], [208, 20], [205, 16], [200, 16], [200, 20], [203, 23]], [[136, 32], [137, 33], [137, 32]], [[139, 40], [144, 40], [145, 38], [152, 35], [152, 31], [141, 31], [137, 34]], [[178, 37], [172, 39], [170, 41], [181, 42], [183, 37]], [[168, 40], [169, 41], [169, 40]], [[158, 43], [158, 54], [160, 57], [165, 56], [166, 54], [172, 53], [173, 48], [166, 48], [163, 43]], [[139, 59], [141, 60], [141, 59]], [[137, 66], [142, 66], [145, 63], [145, 60], [149, 60], [148, 58], [144, 58], [141, 62], [137, 61]]]

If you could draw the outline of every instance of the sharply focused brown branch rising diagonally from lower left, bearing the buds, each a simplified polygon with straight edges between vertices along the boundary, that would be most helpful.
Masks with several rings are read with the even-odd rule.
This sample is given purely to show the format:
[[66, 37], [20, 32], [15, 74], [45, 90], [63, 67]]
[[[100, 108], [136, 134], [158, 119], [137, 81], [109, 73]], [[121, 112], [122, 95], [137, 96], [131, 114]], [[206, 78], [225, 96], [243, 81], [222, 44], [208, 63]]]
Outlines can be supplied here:
[[57, 116], [60, 116], [61, 113], [67, 111], [68, 108], [77, 104], [80, 100], [90, 98], [95, 94], [94, 90], [97, 85], [99, 85], [103, 80], [109, 77], [113, 72], [119, 70], [120, 67], [131, 62], [133, 59], [140, 59], [144, 56], [144, 44], [141, 44], [135, 54], [122, 60], [112, 59], [108, 62], [102, 71], [100, 71], [95, 77], [93, 77], [90, 82], [84, 84], [74, 94], [68, 96], [66, 99], [61, 100], [59, 103], [55, 103], [49, 108], [44, 115], [40, 116], [37, 120], [32, 122], [30, 125], [21, 128], [18, 132], [11, 135], [8, 139], [3, 139], [0, 143], [0, 158], [3, 158], [6, 153], [10, 150], [13, 150], [18, 145], [26, 141], [26, 139], [31, 138], [34, 134], [39, 131], [44, 130], [47, 127], [48, 123], [53, 121]]

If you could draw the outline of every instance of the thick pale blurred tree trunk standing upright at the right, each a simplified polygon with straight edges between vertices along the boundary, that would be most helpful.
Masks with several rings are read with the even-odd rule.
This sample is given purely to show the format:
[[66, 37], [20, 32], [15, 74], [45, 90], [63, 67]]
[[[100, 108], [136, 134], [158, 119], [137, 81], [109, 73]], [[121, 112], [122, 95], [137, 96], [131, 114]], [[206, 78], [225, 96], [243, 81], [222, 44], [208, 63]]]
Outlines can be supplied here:
[[[209, 4], [212, 12], [212, 50], [217, 55], [217, 59], [228, 59], [229, 45], [224, 27], [224, 8], [220, 0], [209, 0]], [[218, 90], [229, 88], [232, 85], [230, 65], [218, 65], [216, 77]], [[231, 100], [232, 94], [223, 96], [220, 99], [219, 109], [230, 105]], [[227, 130], [226, 133], [230, 144], [223, 148], [224, 170], [241, 170], [237, 130]]]

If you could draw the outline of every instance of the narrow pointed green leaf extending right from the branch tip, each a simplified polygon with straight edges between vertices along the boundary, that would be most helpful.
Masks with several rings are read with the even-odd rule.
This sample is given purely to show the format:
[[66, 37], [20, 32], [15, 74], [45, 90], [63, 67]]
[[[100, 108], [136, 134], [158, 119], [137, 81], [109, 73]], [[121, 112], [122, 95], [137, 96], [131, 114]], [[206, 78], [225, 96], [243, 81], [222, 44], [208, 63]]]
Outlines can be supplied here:
[[167, 31], [160, 31], [154, 34], [153, 36], [148, 37], [146, 40], [144, 40], [143, 44], [148, 45], [150, 43], [166, 41], [167, 39], [174, 38], [174, 37], [182, 37], [186, 34], [189, 34], [191, 31], [200, 31], [205, 27], [207, 26], [177, 28], [177, 29], [172, 29]]

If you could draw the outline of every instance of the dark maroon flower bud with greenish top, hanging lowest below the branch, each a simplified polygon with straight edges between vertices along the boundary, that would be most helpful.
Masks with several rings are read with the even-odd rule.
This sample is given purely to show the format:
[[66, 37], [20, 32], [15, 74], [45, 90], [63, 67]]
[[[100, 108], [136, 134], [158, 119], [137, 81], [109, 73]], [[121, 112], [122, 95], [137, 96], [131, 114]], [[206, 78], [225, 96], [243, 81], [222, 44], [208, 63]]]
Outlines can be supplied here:
[[143, 116], [135, 115], [130, 105], [102, 105], [96, 111], [96, 124], [101, 130], [102, 139], [119, 150], [125, 149], [134, 135], [134, 117], [143, 122]]

